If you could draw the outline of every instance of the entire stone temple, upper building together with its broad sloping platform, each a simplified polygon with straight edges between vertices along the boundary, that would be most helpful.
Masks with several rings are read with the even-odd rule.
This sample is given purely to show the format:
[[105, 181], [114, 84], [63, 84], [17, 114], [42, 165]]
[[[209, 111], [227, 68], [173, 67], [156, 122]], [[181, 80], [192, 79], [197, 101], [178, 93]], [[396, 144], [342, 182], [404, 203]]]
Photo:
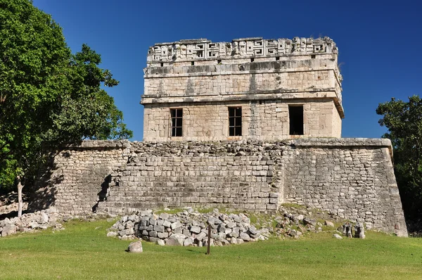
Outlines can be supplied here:
[[407, 236], [390, 141], [341, 138], [333, 40], [155, 44], [144, 72], [143, 141], [51, 151], [30, 208], [275, 212], [297, 203]]

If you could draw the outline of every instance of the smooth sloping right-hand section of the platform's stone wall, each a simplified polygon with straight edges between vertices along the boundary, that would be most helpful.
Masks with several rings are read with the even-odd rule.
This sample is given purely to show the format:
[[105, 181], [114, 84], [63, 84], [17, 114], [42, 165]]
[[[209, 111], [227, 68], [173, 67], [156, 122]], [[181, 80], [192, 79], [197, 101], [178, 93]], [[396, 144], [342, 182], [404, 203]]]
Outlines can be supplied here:
[[396, 226], [392, 221], [403, 227], [390, 147], [345, 145], [350, 146], [314, 141], [297, 146], [284, 163], [284, 201], [329, 210], [383, 231]]

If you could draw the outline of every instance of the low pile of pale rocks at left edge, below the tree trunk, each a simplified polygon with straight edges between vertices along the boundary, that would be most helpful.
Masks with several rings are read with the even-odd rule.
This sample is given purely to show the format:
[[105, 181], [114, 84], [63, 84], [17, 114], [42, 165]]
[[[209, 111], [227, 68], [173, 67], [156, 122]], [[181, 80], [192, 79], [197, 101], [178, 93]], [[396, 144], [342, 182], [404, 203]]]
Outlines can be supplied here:
[[18, 232], [47, 229], [49, 227], [54, 227], [57, 230], [64, 229], [58, 220], [59, 214], [54, 208], [23, 214], [20, 218], [2, 219], [0, 221], [0, 236], [4, 237]]

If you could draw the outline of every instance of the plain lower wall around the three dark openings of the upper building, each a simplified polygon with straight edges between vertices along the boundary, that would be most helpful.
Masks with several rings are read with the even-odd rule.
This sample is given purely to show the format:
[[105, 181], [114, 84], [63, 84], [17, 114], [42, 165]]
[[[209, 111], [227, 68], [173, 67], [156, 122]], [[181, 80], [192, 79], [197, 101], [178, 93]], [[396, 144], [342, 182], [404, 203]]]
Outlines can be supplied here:
[[[145, 104], [143, 136], [156, 141], [222, 141], [288, 139], [288, 106], [303, 106], [303, 132], [307, 136], [340, 137], [341, 120], [332, 100], [326, 98], [290, 101], [230, 101], [172, 103], [171, 108], [183, 108], [183, 137], [172, 137], [170, 110], [162, 104]], [[242, 108], [242, 136], [229, 136], [228, 107]]]

